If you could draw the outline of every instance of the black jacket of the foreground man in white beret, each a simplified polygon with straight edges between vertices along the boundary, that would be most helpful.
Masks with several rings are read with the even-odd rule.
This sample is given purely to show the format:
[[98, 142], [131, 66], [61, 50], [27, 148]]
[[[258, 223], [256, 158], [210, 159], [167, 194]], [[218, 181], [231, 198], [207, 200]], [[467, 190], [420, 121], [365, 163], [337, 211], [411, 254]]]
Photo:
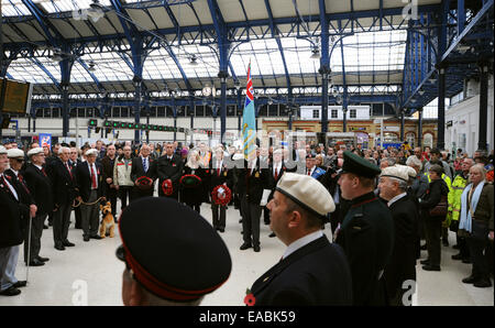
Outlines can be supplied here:
[[323, 236], [298, 249], [252, 286], [255, 305], [352, 305], [345, 254]]

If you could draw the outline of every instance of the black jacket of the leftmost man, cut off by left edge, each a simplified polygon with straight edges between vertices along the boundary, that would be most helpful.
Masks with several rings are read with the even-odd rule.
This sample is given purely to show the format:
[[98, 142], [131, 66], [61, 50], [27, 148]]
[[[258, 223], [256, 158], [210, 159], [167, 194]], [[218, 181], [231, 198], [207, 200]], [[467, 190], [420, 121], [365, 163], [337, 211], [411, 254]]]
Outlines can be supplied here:
[[21, 229], [21, 207], [19, 206], [19, 201], [10, 192], [9, 187], [3, 185], [1, 178], [0, 214], [0, 248], [9, 248], [21, 244], [23, 241]]

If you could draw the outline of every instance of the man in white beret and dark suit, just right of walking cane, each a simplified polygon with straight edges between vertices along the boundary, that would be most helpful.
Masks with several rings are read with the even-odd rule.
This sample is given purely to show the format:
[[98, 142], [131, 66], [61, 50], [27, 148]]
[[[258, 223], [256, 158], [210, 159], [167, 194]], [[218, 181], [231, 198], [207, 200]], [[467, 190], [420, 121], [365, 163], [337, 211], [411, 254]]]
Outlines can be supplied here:
[[40, 256], [41, 238], [43, 233], [43, 222], [53, 210], [53, 187], [52, 182], [46, 175], [43, 165], [45, 164], [45, 154], [43, 149], [37, 147], [28, 152], [31, 164], [28, 165], [24, 178], [30, 188], [34, 201], [37, 207], [36, 216], [32, 218], [31, 228], [31, 250], [28, 250], [29, 231], [24, 238], [24, 262], [28, 262], [28, 253], [30, 252], [30, 261], [37, 259], [41, 262], [48, 261], [47, 258]]

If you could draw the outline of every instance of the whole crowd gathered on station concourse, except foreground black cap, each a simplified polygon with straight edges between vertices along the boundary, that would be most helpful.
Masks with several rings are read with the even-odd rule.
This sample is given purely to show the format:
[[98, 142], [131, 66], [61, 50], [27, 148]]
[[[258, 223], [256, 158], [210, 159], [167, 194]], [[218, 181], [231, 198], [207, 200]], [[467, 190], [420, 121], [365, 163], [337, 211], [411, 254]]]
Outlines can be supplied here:
[[[33, 143], [26, 150], [9, 143], [0, 145], [0, 295], [19, 295], [19, 288], [25, 286], [14, 274], [20, 244], [24, 242], [26, 264], [48, 262], [40, 255], [47, 226], [53, 227], [54, 248], [65, 251], [75, 245], [68, 240], [72, 211], [82, 240], [98, 240], [101, 203], [111, 204], [117, 222], [127, 207], [154, 196], [156, 189], [158, 197], [175, 199], [198, 216], [201, 205], [209, 204], [211, 225], [219, 233], [226, 231], [228, 206], [238, 209], [243, 251], [261, 251], [262, 218], [273, 230], [270, 237], [277, 237], [288, 249], [298, 238], [320, 240], [321, 230], [330, 223], [331, 239], [345, 259], [333, 254], [338, 250], [327, 252], [345, 264], [342, 271], [334, 266], [326, 270], [336, 276], [349, 275], [349, 281], [336, 278], [342, 288], [349, 287], [334, 289], [340, 300], [315, 295], [302, 299], [290, 293], [283, 298], [268, 296], [270, 288], [262, 287], [265, 281], [257, 281], [253, 293], [258, 304], [308, 299], [319, 304], [322, 299], [324, 304], [403, 305], [403, 283], [416, 280], [421, 251], [428, 254], [420, 262], [422, 270], [441, 271], [441, 247], [450, 247], [449, 230], [455, 233], [453, 248], [459, 250], [452, 259], [472, 264], [472, 274], [462, 283], [488, 287], [493, 275], [493, 152], [488, 156], [476, 151], [470, 157], [458, 150], [451, 156], [437, 149], [410, 149], [407, 143], [400, 149], [362, 150], [296, 142], [290, 149], [255, 146], [248, 158], [234, 146], [210, 149], [205, 143], [98, 141], [80, 149], [75, 143], [57, 143], [52, 149]], [[328, 197], [315, 196], [311, 190], [318, 188]], [[280, 216], [288, 216], [293, 228], [282, 225]], [[298, 216], [311, 229], [294, 228], [299, 227]], [[294, 298], [287, 298], [289, 294]]]

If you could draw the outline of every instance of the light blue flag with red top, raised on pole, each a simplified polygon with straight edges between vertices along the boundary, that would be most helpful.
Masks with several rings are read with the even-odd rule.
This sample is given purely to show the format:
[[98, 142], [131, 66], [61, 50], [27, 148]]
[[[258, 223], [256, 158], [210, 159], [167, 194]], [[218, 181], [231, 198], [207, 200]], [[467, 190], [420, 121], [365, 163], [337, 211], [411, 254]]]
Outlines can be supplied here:
[[242, 134], [244, 136], [244, 158], [250, 158], [250, 154], [254, 152], [256, 142], [256, 122], [254, 116], [254, 88], [251, 79], [251, 61], [248, 66], [248, 85], [245, 87], [245, 103], [242, 113]]

